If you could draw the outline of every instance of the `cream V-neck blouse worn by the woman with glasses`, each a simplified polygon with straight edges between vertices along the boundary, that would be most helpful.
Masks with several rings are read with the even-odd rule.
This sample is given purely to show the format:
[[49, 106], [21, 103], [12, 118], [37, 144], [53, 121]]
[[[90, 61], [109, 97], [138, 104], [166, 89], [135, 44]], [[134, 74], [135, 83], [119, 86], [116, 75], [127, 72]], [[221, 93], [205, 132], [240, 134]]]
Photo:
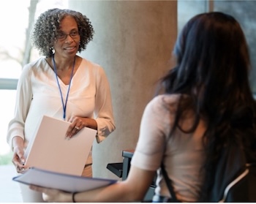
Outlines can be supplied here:
[[[64, 101], [68, 85], [59, 80]], [[45, 57], [26, 64], [18, 80], [14, 118], [10, 121], [7, 142], [22, 137], [25, 148], [42, 115], [63, 118], [63, 106], [55, 72]], [[115, 129], [110, 86], [104, 70], [98, 64], [83, 60], [70, 84], [66, 121], [72, 116], [94, 118], [97, 121], [97, 142]]]

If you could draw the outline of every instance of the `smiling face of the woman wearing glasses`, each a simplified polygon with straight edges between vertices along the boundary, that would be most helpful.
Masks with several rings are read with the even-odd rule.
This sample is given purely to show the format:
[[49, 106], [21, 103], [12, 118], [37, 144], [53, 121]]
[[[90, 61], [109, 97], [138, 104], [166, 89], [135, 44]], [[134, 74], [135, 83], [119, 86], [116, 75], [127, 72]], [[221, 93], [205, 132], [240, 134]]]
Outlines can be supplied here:
[[55, 55], [73, 58], [78, 52], [79, 42], [78, 23], [76, 23], [75, 18], [68, 15], [61, 20], [56, 41], [53, 43]]

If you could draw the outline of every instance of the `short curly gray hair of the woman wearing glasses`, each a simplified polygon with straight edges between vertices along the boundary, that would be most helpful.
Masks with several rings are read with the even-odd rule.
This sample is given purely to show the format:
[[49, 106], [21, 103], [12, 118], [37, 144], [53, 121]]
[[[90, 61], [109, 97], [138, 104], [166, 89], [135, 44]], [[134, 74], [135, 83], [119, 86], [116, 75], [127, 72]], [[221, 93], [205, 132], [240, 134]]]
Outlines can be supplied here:
[[35, 48], [44, 56], [53, 55], [53, 42], [56, 40], [57, 31], [60, 28], [61, 20], [67, 15], [75, 18], [78, 23], [78, 32], [80, 34], [80, 45], [78, 52], [86, 49], [86, 45], [91, 41], [94, 35], [94, 29], [86, 15], [73, 10], [50, 9], [39, 15], [34, 24], [34, 31], [31, 39]]

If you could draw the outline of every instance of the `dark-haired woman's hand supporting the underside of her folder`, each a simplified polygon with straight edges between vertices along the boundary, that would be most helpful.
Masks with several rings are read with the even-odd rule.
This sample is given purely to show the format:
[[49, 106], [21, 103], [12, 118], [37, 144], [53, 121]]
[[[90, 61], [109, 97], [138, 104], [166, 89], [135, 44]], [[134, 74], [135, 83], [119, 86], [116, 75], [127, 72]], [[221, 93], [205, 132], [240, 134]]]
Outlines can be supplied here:
[[50, 203], [72, 203], [72, 194], [56, 189], [48, 189], [40, 186], [30, 185], [30, 189], [42, 192], [42, 199]]

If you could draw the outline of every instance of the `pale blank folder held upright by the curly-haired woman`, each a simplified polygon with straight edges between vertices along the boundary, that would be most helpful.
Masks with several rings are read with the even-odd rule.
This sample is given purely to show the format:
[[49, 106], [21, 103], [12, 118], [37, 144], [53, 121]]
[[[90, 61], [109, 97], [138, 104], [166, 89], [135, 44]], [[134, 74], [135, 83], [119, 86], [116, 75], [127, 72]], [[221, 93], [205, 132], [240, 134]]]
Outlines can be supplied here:
[[84, 127], [68, 140], [65, 135], [69, 125], [67, 121], [43, 116], [34, 140], [26, 149], [25, 165], [81, 175], [97, 131]]

